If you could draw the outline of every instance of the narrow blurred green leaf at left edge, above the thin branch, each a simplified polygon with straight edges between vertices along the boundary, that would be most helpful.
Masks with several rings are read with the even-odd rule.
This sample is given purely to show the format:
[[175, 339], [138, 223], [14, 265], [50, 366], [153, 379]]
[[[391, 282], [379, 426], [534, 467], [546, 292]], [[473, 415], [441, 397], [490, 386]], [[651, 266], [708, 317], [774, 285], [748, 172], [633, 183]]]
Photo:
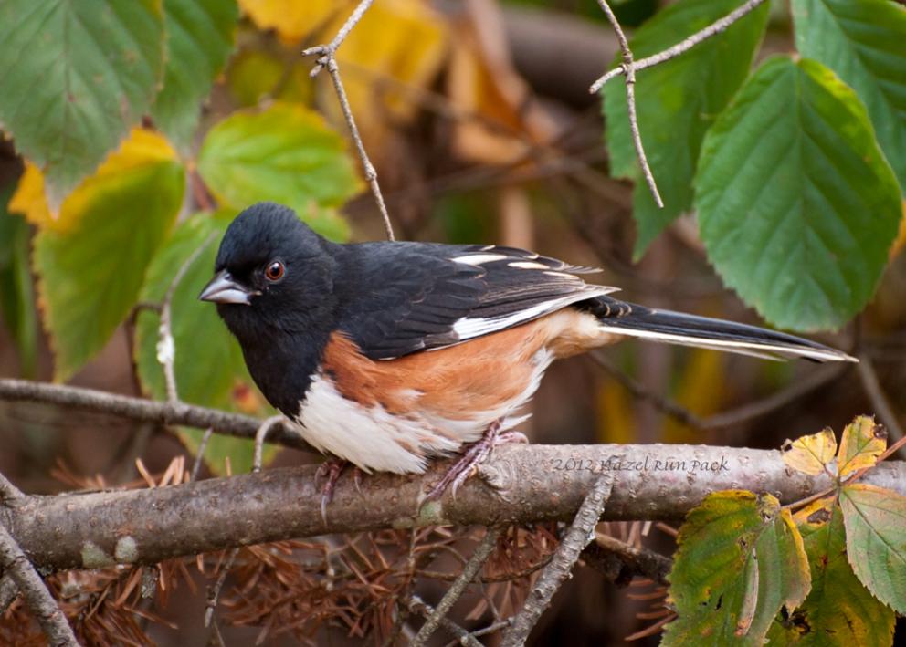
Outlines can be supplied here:
[[28, 224], [6, 209], [12, 190], [10, 185], [0, 191], [0, 313], [16, 344], [22, 376], [34, 378], [37, 317], [28, 270]]

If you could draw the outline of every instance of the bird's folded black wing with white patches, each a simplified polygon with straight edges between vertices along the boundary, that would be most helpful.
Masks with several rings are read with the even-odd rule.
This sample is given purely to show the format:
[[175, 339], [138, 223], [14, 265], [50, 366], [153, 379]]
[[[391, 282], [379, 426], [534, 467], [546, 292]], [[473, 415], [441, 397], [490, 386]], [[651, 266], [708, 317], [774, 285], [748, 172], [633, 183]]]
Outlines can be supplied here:
[[614, 292], [594, 268], [512, 247], [347, 245], [335, 292], [339, 328], [373, 360], [440, 349]]

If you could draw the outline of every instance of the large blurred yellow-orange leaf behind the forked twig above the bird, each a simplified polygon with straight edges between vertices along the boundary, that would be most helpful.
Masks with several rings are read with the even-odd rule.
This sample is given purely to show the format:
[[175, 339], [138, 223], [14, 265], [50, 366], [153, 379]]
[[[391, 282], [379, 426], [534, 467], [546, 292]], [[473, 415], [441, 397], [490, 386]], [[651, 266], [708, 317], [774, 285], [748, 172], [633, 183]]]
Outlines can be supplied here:
[[[344, 19], [338, 16], [326, 26], [320, 39], [329, 41]], [[446, 24], [423, 0], [382, 0], [368, 9], [337, 51], [346, 94], [368, 144], [380, 144], [388, 117], [400, 121], [416, 114], [413, 93], [424, 92], [437, 77], [447, 43]], [[322, 88], [332, 92], [324, 76]], [[326, 105], [342, 120], [335, 100]]]

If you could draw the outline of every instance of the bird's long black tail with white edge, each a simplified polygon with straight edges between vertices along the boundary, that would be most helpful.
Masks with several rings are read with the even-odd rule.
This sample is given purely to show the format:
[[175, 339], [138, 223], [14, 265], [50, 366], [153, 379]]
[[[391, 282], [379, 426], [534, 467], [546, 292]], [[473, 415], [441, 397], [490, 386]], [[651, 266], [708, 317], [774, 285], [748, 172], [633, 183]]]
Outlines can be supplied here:
[[584, 302], [607, 332], [669, 344], [753, 355], [766, 360], [859, 361], [842, 350], [776, 330], [646, 308], [612, 297]]

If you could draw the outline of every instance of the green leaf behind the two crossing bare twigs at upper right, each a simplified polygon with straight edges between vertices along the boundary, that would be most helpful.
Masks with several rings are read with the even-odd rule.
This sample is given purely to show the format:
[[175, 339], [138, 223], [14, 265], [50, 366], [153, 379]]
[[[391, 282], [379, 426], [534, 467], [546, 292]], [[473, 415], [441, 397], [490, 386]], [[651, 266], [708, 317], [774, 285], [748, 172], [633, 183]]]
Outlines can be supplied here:
[[[655, 54], [742, 4], [743, 0], [680, 0], [669, 5], [636, 32], [629, 44], [633, 56]], [[642, 256], [664, 227], [690, 209], [701, 141], [752, 67], [767, 24], [768, 5], [682, 56], [637, 73], [638, 128], [664, 200], [663, 209], [654, 203], [638, 166], [629, 132], [626, 85], [616, 78], [605, 86], [611, 173], [636, 182], [633, 216], [638, 237], [634, 256]]]

